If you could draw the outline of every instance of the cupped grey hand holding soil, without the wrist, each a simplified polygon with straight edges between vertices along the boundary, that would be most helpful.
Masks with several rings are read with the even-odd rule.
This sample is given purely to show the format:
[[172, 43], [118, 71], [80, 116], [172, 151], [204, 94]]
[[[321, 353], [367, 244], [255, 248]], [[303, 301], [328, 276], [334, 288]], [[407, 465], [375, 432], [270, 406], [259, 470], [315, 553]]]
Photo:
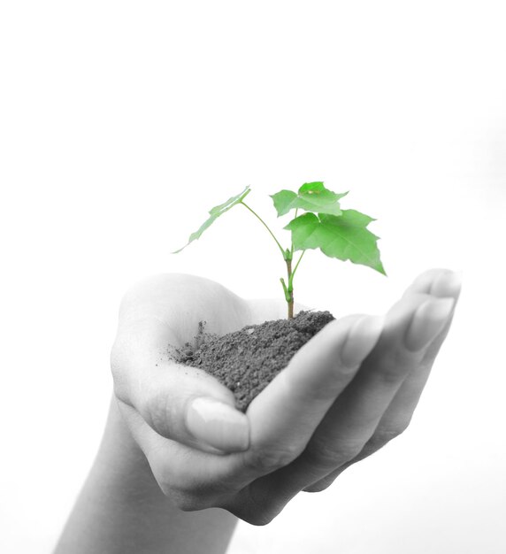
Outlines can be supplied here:
[[222, 507], [263, 525], [298, 492], [326, 489], [403, 431], [458, 293], [454, 273], [433, 270], [384, 321], [331, 322], [242, 414], [231, 391], [173, 362], [167, 346], [191, 342], [201, 320], [222, 335], [284, 317], [284, 304], [248, 302], [188, 275], [150, 278], [126, 294], [119, 312], [111, 367], [120, 410], [181, 510]]

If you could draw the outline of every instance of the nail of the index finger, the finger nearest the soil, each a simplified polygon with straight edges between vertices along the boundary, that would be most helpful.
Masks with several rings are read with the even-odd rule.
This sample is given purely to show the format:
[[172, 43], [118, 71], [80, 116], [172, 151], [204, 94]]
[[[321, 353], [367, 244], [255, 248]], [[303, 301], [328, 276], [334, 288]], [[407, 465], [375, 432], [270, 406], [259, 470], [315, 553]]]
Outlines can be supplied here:
[[341, 350], [341, 362], [346, 367], [360, 365], [380, 338], [385, 316], [366, 315], [349, 330]]

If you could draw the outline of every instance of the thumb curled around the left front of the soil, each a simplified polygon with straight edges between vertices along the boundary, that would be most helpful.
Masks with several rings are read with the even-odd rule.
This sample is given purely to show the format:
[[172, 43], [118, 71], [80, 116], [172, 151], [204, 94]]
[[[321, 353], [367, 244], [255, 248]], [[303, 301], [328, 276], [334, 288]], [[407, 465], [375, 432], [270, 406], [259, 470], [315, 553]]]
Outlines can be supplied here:
[[111, 352], [116, 396], [166, 438], [201, 450], [247, 450], [249, 422], [235, 409], [233, 393], [211, 375], [175, 363], [170, 343], [177, 342], [158, 319], [122, 326]]

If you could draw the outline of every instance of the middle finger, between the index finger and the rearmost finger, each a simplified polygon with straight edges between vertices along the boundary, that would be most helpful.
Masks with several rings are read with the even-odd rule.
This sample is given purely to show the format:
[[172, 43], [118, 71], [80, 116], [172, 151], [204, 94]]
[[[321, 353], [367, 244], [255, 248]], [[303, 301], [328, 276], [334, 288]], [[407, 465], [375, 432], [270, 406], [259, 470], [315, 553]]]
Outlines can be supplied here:
[[282, 494], [296, 494], [357, 456], [450, 309], [448, 301], [423, 295], [395, 304], [357, 376], [326, 413], [303, 454], [286, 468]]

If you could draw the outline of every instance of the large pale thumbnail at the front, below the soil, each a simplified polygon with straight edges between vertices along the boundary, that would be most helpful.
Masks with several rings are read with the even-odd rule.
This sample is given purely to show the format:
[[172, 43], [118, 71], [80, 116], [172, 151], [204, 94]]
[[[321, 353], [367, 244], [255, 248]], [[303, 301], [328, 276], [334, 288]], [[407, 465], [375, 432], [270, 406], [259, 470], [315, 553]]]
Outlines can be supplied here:
[[188, 406], [188, 431], [219, 450], [235, 452], [249, 448], [248, 417], [211, 397], [198, 397]]

